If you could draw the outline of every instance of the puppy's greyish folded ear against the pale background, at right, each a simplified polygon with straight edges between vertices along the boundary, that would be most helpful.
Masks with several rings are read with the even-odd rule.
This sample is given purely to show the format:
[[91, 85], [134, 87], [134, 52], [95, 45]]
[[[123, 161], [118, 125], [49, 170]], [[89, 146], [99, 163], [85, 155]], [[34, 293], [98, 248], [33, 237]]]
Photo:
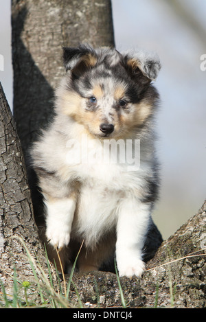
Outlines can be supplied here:
[[133, 72], [139, 74], [139, 71], [148, 79], [148, 82], [156, 80], [161, 64], [157, 54], [148, 54], [139, 51], [135, 54], [126, 54], [126, 65]]

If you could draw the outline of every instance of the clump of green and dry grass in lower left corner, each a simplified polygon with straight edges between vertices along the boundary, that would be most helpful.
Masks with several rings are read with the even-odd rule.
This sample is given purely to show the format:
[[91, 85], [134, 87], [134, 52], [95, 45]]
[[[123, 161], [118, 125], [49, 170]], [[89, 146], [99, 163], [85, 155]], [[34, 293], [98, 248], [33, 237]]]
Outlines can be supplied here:
[[[28, 251], [25, 242], [21, 238], [19, 238], [19, 240], [21, 240], [27, 253], [27, 259], [28, 262], [30, 262], [32, 273], [34, 275], [34, 283], [32, 284], [30, 281], [20, 281], [16, 276], [16, 268], [14, 266], [13, 288], [11, 294], [8, 294], [6, 292], [5, 287], [3, 286], [3, 282], [0, 279], [0, 307], [73, 308], [73, 304], [69, 299], [69, 291], [72, 284], [78, 298], [78, 308], [83, 308], [82, 301], [80, 300], [80, 295], [78, 294], [78, 290], [72, 281], [73, 272], [76, 266], [78, 256], [76, 257], [76, 260], [73, 264], [69, 281], [67, 283], [65, 281], [65, 275], [62, 272], [62, 287], [58, 270], [57, 268], [54, 269], [54, 267], [50, 264], [49, 259], [47, 257], [47, 253], [47, 273], [45, 273], [45, 271], [41, 267], [41, 264], [38, 262], [38, 257], [36, 256], [36, 259], [34, 259]], [[38, 294], [38, 296], [36, 296], [36, 294]], [[38, 298], [38, 303], [34, 303], [34, 298]]]

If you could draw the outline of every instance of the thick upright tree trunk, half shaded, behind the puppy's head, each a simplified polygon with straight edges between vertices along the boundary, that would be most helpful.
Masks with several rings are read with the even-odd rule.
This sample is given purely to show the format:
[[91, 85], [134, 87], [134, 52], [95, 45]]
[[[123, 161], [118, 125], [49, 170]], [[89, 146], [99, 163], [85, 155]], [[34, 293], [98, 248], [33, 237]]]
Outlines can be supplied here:
[[62, 46], [113, 46], [110, 0], [12, 0], [14, 119], [24, 152], [53, 113]]

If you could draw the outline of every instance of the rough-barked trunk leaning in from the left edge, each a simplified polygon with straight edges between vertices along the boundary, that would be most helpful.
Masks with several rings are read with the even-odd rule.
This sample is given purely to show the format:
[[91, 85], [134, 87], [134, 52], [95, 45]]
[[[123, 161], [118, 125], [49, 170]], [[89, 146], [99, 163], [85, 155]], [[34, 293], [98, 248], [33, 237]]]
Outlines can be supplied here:
[[0, 277], [11, 294], [14, 271], [19, 280], [36, 283], [23, 243], [32, 257], [38, 254], [43, 268], [47, 266], [32, 214], [21, 143], [1, 83], [0, 148]]

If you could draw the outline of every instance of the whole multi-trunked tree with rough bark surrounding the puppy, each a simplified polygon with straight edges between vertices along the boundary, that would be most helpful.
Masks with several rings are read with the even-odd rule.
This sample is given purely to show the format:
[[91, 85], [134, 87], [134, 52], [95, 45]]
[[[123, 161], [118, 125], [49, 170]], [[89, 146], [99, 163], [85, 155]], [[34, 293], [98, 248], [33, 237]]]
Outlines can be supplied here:
[[[38, 264], [48, 273], [34, 222], [23, 151], [26, 153], [39, 128], [51, 117], [54, 87], [63, 73], [61, 47], [82, 41], [114, 45], [110, 1], [85, 0], [83, 4], [82, 1], [12, 1], [16, 125], [0, 87], [0, 286], [8, 294], [15, 289], [14, 275], [21, 281], [38, 283], [34, 278], [34, 266], [39, 271]], [[204, 204], [196, 216], [163, 242], [148, 262], [148, 271], [142, 279], [120, 279], [129, 306], [153, 307], [155, 303], [165, 307], [205, 306], [205, 254], [202, 251], [198, 255], [205, 248], [205, 207]], [[156, 228], [153, 236], [159, 238]], [[182, 244], [185, 246], [181, 247]], [[191, 253], [192, 257], [188, 257]], [[174, 263], [168, 264], [172, 260]], [[91, 307], [121, 306], [119, 285], [113, 273], [75, 274], [73, 281], [73, 303], [77, 301], [78, 290], [82, 303], [89, 302]], [[33, 301], [39, 301], [37, 295]]]

